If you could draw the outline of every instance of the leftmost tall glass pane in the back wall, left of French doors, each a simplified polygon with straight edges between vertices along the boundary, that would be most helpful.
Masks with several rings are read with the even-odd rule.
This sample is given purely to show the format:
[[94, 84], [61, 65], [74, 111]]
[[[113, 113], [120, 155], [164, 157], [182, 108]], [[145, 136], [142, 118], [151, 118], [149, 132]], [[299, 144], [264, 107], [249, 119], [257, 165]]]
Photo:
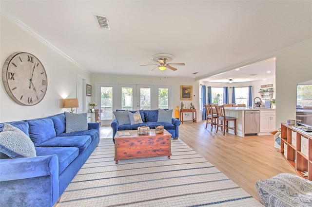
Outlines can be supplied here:
[[113, 87], [101, 87], [101, 120], [113, 118]]

